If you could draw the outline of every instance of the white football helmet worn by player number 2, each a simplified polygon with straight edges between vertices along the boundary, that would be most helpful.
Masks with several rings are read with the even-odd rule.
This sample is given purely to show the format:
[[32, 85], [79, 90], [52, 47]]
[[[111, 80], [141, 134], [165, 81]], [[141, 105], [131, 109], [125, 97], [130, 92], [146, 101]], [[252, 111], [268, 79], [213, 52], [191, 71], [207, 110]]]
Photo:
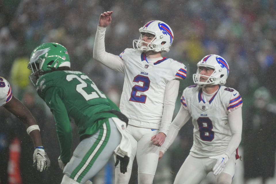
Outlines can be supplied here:
[[[170, 50], [170, 46], [173, 43], [173, 31], [170, 26], [160, 20], [152, 20], [139, 29], [141, 33], [139, 40], [133, 40], [133, 48], [135, 50], [147, 51], [166, 51]], [[142, 46], [142, 43], [147, 43], [142, 40], [144, 33], [153, 34], [155, 37], [148, 44], [148, 46]], [[163, 43], [163, 45], [162, 45]]]

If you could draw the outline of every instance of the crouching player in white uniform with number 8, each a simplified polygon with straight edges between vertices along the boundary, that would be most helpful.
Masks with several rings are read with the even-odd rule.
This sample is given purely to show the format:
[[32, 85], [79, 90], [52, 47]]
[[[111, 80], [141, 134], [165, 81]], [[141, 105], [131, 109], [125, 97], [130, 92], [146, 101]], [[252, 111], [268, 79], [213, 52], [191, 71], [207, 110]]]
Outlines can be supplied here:
[[193, 74], [195, 85], [183, 91], [180, 110], [161, 146], [159, 158], [191, 117], [193, 146], [174, 183], [200, 183], [212, 171], [217, 183], [230, 184], [235, 173], [235, 160], [239, 158], [241, 96], [235, 89], [224, 86], [229, 66], [223, 57], [207, 55], [197, 66], [197, 72]]

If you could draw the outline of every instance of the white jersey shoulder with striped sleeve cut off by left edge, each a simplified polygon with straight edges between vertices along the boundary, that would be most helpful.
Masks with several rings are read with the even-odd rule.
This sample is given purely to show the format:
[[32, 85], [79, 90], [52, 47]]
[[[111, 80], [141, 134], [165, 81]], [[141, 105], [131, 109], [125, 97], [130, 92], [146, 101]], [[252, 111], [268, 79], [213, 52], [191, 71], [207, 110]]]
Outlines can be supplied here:
[[5, 78], [0, 77], [0, 106], [5, 105], [11, 98], [12, 92], [9, 82]]

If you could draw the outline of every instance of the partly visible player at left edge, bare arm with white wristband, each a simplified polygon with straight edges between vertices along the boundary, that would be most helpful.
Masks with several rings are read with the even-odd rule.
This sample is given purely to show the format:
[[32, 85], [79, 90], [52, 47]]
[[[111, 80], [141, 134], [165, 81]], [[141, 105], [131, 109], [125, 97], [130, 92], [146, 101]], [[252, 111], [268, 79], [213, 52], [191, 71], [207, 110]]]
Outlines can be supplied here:
[[27, 133], [32, 137], [34, 143], [33, 166], [40, 172], [47, 170], [50, 166], [50, 160], [42, 146], [39, 126], [26, 106], [12, 96], [9, 82], [3, 77], [0, 77], [0, 106], [3, 106], [24, 123]]

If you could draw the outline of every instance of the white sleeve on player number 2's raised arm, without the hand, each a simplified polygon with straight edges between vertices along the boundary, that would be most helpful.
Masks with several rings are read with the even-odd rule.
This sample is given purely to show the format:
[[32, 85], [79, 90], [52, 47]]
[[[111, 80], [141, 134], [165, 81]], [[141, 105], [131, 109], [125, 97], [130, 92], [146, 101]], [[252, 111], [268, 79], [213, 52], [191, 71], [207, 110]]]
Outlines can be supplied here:
[[98, 26], [93, 47], [93, 58], [108, 68], [123, 73], [123, 60], [118, 55], [106, 52], [104, 44], [105, 32], [106, 28]]

